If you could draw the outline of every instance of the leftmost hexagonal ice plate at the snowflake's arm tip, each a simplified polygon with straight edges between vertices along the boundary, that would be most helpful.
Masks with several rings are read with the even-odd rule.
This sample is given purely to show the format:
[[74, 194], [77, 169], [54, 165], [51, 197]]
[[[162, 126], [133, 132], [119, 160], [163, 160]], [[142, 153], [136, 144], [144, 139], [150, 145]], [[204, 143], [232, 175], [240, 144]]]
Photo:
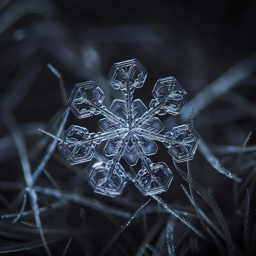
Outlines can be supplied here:
[[90, 133], [86, 128], [70, 126], [64, 133], [58, 149], [70, 164], [90, 161], [95, 153], [95, 143], [86, 143]]

